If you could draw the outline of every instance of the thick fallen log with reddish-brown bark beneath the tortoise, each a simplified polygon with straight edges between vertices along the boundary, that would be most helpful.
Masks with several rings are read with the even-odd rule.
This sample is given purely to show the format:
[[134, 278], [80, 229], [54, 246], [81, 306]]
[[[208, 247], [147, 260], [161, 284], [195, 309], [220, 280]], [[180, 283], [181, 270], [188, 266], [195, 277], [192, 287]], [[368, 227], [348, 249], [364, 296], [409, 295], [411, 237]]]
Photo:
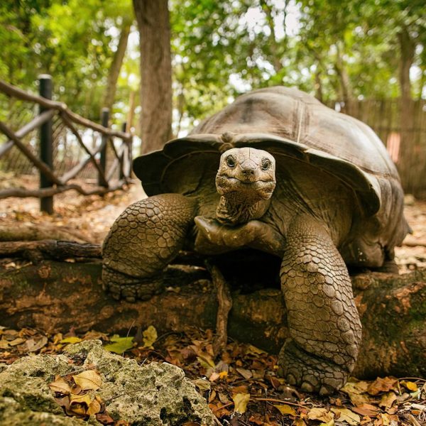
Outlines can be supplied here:
[[[0, 269], [1, 325], [48, 333], [70, 327], [77, 332], [127, 333], [135, 324], [152, 324], [160, 333], [181, 332], [189, 325], [215, 327], [217, 288], [197, 257], [181, 256], [179, 262], [198, 266], [180, 264], [165, 270], [163, 294], [147, 302], [116, 302], [102, 291], [101, 261], [93, 258], [99, 256], [99, 248], [58, 242], [56, 250], [51, 242], [43, 244], [40, 252], [67, 261], [8, 261], [8, 268]], [[70, 263], [73, 254], [81, 260], [84, 252], [85, 263]], [[425, 376], [426, 271], [366, 273], [353, 276], [352, 282], [364, 327], [355, 375]], [[280, 290], [275, 286], [244, 292], [232, 285], [229, 336], [277, 353], [289, 336]]]

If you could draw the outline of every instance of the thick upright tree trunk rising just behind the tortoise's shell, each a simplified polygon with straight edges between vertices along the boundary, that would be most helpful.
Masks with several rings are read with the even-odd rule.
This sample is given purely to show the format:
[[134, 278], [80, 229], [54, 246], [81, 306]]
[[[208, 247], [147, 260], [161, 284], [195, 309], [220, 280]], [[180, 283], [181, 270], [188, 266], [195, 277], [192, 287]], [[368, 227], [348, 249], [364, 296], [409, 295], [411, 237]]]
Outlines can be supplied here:
[[167, 0], [133, 0], [141, 37], [141, 152], [172, 135], [172, 65]]

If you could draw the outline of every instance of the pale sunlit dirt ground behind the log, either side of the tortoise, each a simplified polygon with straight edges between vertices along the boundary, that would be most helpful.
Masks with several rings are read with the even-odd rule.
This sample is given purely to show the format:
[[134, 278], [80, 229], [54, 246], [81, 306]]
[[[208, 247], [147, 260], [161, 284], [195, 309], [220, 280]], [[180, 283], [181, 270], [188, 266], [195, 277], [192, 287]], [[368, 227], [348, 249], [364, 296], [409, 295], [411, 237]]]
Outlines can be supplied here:
[[[21, 178], [22, 179], [22, 178]], [[32, 187], [33, 178], [23, 178], [21, 185]], [[83, 197], [75, 191], [55, 196], [55, 214], [48, 216], [39, 211], [35, 198], [8, 198], [0, 200], [1, 226], [28, 224], [55, 224], [74, 232], [80, 239], [102, 244], [109, 227], [129, 204], [145, 197], [141, 185], [135, 184], [126, 192], [114, 192], [99, 197]], [[406, 197], [405, 217], [413, 229], [403, 246], [395, 248], [395, 259], [400, 273], [426, 268], [426, 201]]]

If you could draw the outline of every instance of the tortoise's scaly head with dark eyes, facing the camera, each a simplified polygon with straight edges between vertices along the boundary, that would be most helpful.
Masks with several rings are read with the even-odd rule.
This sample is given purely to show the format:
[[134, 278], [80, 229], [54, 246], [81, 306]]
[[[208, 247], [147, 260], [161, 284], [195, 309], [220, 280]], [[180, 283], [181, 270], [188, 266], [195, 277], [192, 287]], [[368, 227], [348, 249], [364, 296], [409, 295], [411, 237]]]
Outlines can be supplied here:
[[270, 153], [245, 147], [232, 148], [222, 154], [216, 175], [220, 195], [268, 200], [275, 184], [275, 158]]

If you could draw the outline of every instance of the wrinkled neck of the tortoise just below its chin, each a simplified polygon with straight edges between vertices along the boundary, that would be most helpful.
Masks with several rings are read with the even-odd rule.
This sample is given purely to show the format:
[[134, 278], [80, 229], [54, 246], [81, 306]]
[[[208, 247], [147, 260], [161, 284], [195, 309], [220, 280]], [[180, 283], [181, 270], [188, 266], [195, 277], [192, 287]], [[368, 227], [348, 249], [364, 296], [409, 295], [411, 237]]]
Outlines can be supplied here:
[[222, 195], [216, 209], [216, 218], [221, 224], [245, 224], [253, 219], [260, 219], [269, 208], [271, 199], [247, 200], [240, 197]]

